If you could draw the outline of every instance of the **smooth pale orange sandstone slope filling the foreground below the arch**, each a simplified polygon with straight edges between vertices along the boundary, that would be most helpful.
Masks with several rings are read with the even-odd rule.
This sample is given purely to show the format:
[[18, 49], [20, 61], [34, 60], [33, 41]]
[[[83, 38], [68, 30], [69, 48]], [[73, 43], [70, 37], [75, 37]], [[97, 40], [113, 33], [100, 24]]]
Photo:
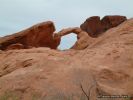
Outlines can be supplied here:
[[0, 100], [133, 96], [133, 19], [100, 37], [89, 37], [88, 43], [83, 50], [60, 51], [47, 47], [1, 50]]

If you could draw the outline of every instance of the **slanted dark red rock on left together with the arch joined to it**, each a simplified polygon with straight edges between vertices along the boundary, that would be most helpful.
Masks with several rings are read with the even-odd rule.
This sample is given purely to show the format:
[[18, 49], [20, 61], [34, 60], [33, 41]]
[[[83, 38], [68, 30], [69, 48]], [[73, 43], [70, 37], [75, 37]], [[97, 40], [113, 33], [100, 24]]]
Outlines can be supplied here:
[[61, 37], [70, 33], [77, 34], [77, 42], [71, 49], [82, 50], [88, 46], [89, 35], [78, 27], [66, 28], [55, 33], [54, 23], [51, 21], [36, 24], [21, 32], [0, 39], [1, 50], [28, 49], [31, 47], [49, 47], [57, 49]]

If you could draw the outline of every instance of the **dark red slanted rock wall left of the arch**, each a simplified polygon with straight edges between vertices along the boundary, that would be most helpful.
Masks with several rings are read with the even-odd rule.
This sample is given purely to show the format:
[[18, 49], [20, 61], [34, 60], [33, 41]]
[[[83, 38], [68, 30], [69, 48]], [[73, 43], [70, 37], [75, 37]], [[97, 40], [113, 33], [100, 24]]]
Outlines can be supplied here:
[[22, 44], [25, 49], [30, 47], [49, 47], [56, 49], [59, 41], [53, 38], [54, 31], [55, 26], [53, 22], [39, 23], [21, 32], [2, 37], [0, 39], [0, 49], [5, 50], [10, 45], [16, 43]]

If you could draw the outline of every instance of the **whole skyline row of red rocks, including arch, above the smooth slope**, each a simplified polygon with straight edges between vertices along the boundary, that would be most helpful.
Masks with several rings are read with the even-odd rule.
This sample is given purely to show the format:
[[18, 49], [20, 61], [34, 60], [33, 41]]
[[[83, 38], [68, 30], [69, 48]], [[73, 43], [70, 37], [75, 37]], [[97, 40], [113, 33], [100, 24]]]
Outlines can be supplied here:
[[[80, 28], [67, 28], [58, 34], [54, 33], [55, 26], [53, 22], [48, 21], [34, 25], [26, 30], [0, 38], [0, 49], [27, 49], [31, 47], [49, 47], [57, 49], [61, 37], [70, 33], [78, 35], [78, 41], [71, 49], [85, 49], [92, 42], [91, 37], [97, 37], [106, 30], [116, 27], [126, 20], [124, 16], [105, 16], [102, 20], [100, 17], [93, 16], [88, 18]], [[91, 36], [87, 36], [87, 33]], [[17, 45], [19, 44], [19, 45]], [[21, 46], [20, 46], [21, 45]]]

